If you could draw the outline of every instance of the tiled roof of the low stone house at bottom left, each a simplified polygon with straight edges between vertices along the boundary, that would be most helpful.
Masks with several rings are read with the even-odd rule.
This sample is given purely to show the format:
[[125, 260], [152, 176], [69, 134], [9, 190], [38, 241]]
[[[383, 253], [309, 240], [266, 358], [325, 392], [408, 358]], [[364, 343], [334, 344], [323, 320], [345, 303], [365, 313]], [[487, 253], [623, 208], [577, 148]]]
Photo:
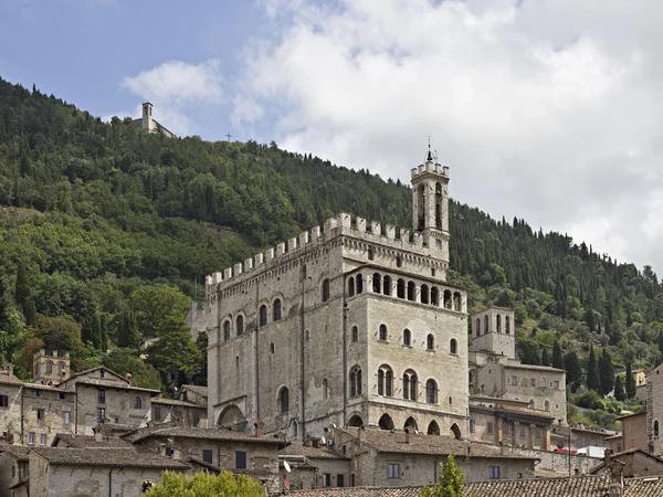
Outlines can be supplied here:
[[156, 454], [138, 453], [128, 448], [39, 447], [33, 451], [54, 465], [189, 468], [189, 465], [181, 461], [159, 457]]

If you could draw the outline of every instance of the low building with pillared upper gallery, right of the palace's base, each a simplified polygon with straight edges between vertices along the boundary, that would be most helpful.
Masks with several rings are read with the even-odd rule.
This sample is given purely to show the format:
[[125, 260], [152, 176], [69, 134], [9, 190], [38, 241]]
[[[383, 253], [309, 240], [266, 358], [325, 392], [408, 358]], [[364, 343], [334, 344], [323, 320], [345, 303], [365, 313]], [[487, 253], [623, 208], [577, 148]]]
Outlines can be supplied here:
[[554, 422], [548, 412], [514, 401], [478, 395], [470, 399], [471, 441], [550, 451]]

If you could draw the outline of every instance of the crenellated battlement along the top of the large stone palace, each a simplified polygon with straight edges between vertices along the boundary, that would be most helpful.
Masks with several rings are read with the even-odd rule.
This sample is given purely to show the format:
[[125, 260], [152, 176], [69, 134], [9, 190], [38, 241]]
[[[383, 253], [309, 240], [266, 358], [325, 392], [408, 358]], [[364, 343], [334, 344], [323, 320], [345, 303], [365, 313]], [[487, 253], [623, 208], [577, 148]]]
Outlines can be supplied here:
[[351, 236], [361, 242], [375, 243], [396, 251], [415, 253], [424, 257], [430, 256], [430, 250], [423, 244], [422, 233], [412, 233], [406, 228], [397, 229], [390, 223], [382, 225], [380, 221], [372, 221], [368, 224], [364, 218], [341, 212], [336, 218], [329, 218], [322, 226], [314, 226], [311, 231], [305, 231], [287, 242], [281, 242], [275, 247], [270, 247], [246, 258], [243, 263], [236, 263], [223, 272], [208, 275], [206, 277], [207, 295], [210, 296], [213, 289], [221, 284], [238, 283], [238, 278], [243, 275], [249, 277], [249, 274], [254, 275], [256, 271], [272, 268], [287, 260], [319, 248], [338, 236]]

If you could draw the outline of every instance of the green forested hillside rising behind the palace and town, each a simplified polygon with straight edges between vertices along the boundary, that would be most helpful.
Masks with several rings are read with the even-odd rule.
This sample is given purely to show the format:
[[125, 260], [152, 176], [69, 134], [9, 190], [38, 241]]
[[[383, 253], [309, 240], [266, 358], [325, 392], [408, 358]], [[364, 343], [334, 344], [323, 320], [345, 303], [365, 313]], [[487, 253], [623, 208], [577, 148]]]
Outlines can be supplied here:
[[[274, 142], [148, 136], [0, 80], [0, 353], [28, 376], [32, 350], [66, 339], [76, 368], [204, 381], [204, 343], [187, 342], [183, 309], [206, 274], [340, 211], [409, 225], [410, 205], [407, 186], [368, 171]], [[558, 340], [572, 388], [606, 390], [592, 384], [590, 343], [606, 367], [659, 360], [651, 268], [456, 202], [451, 232], [452, 277], [473, 307], [516, 308], [525, 361], [550, 361]], [[152, 346], [145, 363], [138, 341], [154, 336], [189, 352], [173, 361]]]

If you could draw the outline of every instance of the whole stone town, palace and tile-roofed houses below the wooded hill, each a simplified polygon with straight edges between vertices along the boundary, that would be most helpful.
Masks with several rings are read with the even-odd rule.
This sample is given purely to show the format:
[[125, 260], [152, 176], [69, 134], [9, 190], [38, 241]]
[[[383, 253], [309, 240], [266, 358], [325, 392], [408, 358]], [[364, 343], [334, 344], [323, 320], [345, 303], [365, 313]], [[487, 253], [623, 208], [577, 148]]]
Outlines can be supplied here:
[[627, 380], [644, 409], [621, 433], [572, 422], [567, 372], [522, 360], [515, 309], [471, 313], [450, 278], [450, 178], [429, 149], [411, 225], [341, 212], [207, 276], [189, 314], [207, 387], [165, 395], [54, 348], [31, 381], [3, 363], [0, 494], [137, 496], [164, 470], [230, 470], [269, 495], [404, 497], [454, 454], [478, 497], [659, 495], [663, 366]]

